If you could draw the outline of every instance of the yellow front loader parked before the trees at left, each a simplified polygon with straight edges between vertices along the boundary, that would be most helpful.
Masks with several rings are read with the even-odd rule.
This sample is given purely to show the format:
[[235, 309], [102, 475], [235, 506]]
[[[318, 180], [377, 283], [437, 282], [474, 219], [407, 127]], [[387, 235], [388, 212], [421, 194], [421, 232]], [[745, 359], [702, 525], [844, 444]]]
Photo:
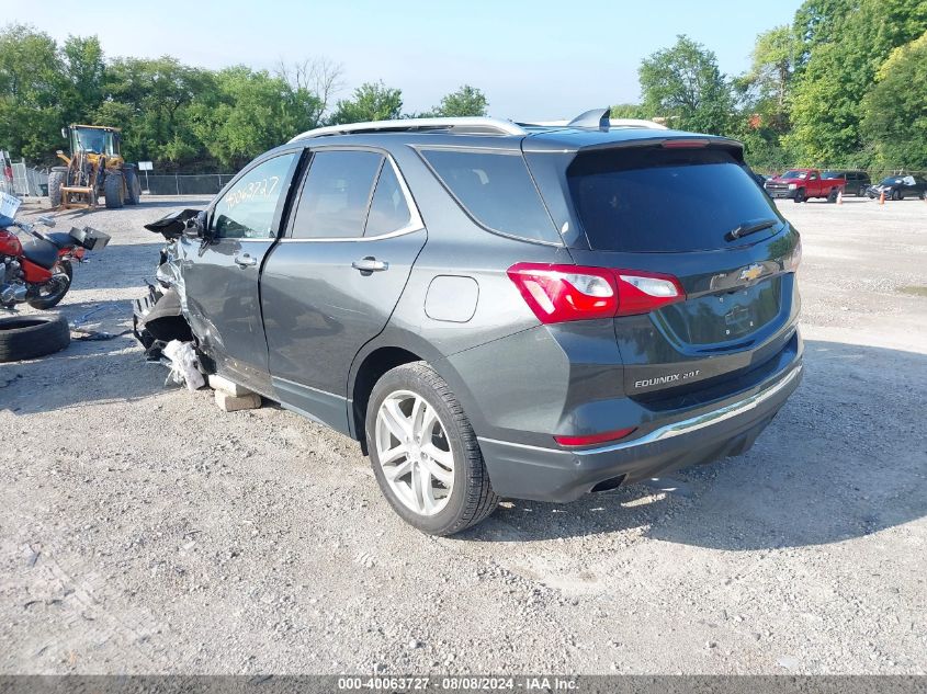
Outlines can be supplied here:
[[67, 166], [54, 167], [48, 174], [52, 207], [92, 209], [102, 197], [106, 207], [137, 205], [142, 184], [133, 164], [120, 153], [118, 128], [99, 125], [71, 125], [61, 128], [71, 156], [58, 150]]

